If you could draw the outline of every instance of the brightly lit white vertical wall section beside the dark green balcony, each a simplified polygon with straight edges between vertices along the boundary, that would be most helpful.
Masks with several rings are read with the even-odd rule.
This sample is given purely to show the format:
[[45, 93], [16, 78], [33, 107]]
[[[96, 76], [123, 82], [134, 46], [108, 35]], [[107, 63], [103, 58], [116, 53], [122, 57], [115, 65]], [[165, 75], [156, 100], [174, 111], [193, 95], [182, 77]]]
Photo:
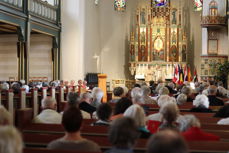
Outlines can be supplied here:
[[84, 3], [86, 0], [62, 1], [61, 78], [84, 77]]

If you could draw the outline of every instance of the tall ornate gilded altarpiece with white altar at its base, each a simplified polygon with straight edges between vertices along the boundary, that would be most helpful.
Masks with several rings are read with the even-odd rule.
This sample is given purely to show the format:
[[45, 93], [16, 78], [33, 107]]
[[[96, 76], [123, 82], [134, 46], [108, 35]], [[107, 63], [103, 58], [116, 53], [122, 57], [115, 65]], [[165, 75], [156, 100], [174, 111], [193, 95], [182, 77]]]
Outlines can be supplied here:
[[130, 71], [135, 79], [145, 81], [172, 79], [174, 64], [184, 65], [187, 59], [181, 6], [155, 1], [160, 2], [152, 0], [149, 6], [137, 8], [130, 36]]

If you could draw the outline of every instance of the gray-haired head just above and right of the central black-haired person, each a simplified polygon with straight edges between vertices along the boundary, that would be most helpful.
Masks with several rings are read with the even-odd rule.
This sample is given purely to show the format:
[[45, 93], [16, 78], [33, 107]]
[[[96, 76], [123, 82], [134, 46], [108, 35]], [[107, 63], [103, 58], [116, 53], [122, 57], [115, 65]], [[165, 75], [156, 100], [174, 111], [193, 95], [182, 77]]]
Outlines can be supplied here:
[[143, 90], [135, 87], [131, 90], [131, 98], [133, 103], [143, 104]]

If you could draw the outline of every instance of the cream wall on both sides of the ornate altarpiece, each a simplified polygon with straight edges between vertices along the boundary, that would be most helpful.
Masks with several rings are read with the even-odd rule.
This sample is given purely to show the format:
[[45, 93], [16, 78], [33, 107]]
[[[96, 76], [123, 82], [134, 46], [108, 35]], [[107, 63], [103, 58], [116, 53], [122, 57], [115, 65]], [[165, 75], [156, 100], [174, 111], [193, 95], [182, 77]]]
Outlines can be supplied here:
[[[199, 63], [200, 12], [193, 11], [192, 1], [179, 1], [188, 7], [189, 59]], [[128, 0], [127, 10], [116, 12], [113, 0], [100, 0], [98, 5], [94, 0], [63, 0], [62, 79], [83, 79], [88, 72], [105, 73], [108, 80], [129, 78], [128, 41], [136, 6], [143, 3], [149, 1]], [[94, 55], [101, 58], [98, 68]]]

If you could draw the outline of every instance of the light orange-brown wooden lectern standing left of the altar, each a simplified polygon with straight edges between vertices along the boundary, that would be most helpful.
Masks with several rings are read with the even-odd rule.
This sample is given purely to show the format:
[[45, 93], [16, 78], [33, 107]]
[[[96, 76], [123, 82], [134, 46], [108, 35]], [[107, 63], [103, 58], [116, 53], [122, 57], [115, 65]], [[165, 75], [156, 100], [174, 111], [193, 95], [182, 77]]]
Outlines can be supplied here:
[[102, 102], [107, 102], [107, 75], [98, 74], [98, 87], [103, 90], [103, 100]]

